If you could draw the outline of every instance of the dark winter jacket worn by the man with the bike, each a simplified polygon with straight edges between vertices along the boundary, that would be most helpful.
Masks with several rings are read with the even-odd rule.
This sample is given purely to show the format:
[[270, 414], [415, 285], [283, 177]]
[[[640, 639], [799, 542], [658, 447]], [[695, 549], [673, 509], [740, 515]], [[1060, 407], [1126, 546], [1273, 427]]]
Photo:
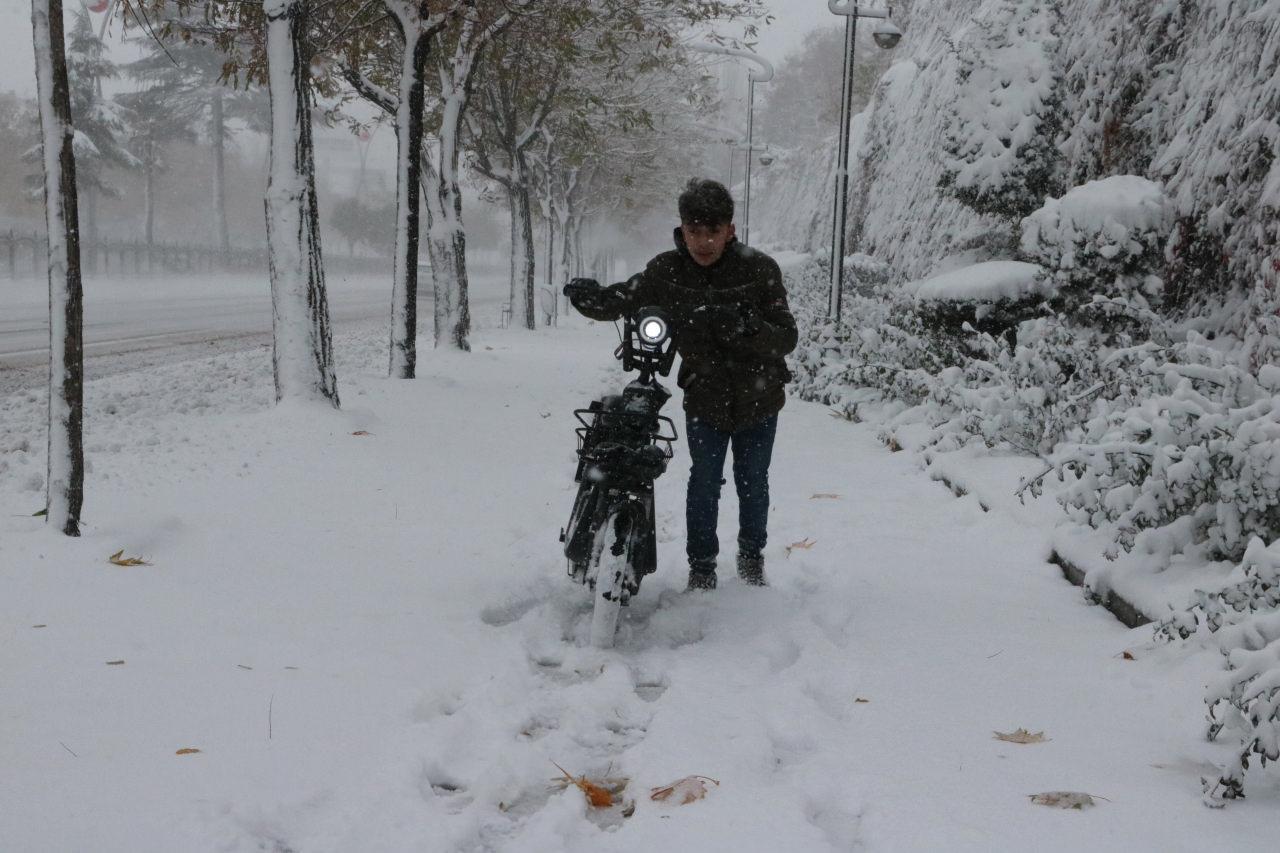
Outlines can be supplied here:
[[[796, 321], [777, 263], [733, 240], [719, 260], [701, 266], [678, 228], [675, 236], [675, 251], [605, 288], [616, 296], [603, 307], [580, 310], [595, 320], [616, 320], [643, 307], [664, 309], [676, 329], [677, 384], [689, 416], [736, 432], [777, 414], [791, 379], [782, 356], [796, 346]], [[726, 316], [744, 321], [726, 323]]]

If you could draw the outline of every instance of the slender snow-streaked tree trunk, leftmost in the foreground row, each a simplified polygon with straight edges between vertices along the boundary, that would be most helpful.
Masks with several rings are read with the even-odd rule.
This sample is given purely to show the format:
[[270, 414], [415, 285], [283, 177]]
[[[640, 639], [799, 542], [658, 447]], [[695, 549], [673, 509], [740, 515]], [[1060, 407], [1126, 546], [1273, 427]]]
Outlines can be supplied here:
[[83, 289], [61, 0], [32, 0], [49, 229], [49, 469], [45, 521], [79, 535], [84, 500]]

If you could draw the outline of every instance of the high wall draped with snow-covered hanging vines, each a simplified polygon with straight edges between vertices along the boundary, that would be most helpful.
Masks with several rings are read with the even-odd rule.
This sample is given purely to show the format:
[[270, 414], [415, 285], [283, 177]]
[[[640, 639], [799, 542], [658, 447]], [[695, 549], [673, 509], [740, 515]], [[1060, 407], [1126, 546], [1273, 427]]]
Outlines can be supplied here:
[[[1052, 1], [1052, 0], [1050, 0]], [[858, 136], [850, 232], [896, 277], [927, 275], [997, 220], [940, 190], [960, 50], [1032, 0], [915, 0]], [[1064, 186], [1143, 175], [1172, 199], [1170, 292], [1249, 287], [1280, 234], [1280, 0], [1059, 0]], [[762, 243], [829, 245], [829, 151], [758, 178]], [[774, 167], [776, 168], [776, 167]]]

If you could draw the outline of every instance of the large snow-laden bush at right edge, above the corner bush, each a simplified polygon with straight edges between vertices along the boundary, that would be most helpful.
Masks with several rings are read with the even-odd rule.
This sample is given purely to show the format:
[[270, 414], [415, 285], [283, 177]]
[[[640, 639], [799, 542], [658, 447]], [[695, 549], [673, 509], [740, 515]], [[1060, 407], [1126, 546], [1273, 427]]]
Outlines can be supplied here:
[[1108, 405], [1055, 453], [1069, 515], [1117, 548], [1239, 560], [1280, 538], [1280, 370], [1245, 370], [1194, 332], [1106, 361]]

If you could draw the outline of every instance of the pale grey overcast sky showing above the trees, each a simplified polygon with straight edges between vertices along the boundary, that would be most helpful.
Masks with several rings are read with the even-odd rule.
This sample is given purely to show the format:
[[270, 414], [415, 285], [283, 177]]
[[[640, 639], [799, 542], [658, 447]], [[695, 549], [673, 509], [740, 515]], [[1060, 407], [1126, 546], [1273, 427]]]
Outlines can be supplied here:
[[[65, 8], [70, 12], [78, 5], [78, 0], [68, 0]], [[812, 29], [844, 24], [844, 18], [827, 10], [827, 0], [768, 0], [767, 5], [772, 6], [776, 20], [762, 28], [756, 50], [774, 65], [781, 65]], [[101, 20], [101, 15], [95, 19]], [[119, 32], [119, 23], [113, 28]], [[0, 91], [5, 90], [26, 95], [36, 91], [29, 0], [0, 0]]]

